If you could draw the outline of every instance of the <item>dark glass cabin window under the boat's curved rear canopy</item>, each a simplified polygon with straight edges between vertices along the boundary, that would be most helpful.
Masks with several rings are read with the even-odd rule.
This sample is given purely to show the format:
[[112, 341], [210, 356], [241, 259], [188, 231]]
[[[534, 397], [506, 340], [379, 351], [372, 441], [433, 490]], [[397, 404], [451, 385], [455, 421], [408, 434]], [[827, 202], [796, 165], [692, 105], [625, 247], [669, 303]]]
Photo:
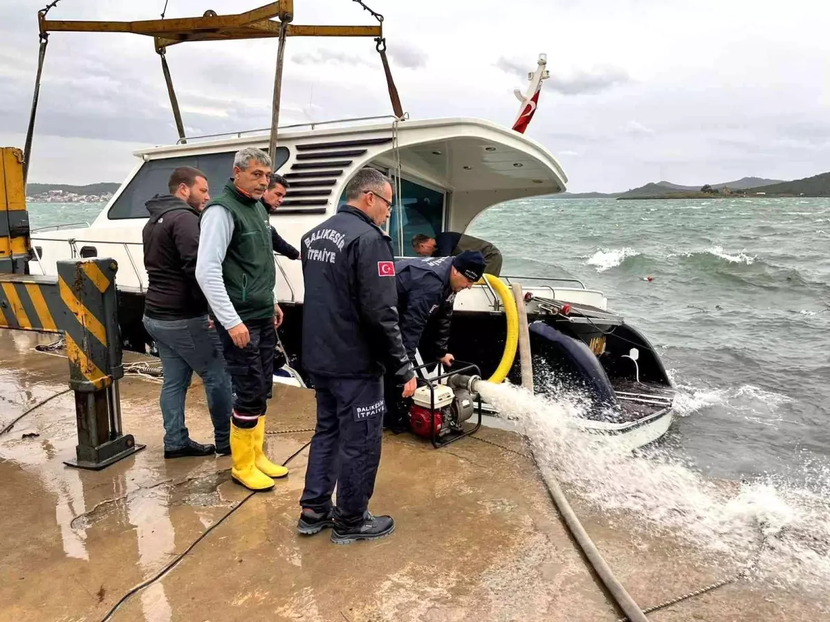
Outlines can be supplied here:
[[[382, 173], [387, 173], [382, 171]], [[393, 191], [395, 190], [393, 183]], [[401, 179], [401, 205], [403, 217], [398, 217], [398, 210], [389, 217], [388, 234], [392, 237], [393, 252], [396, 257], [414, 257], [412, 239], [417, 233], [435, 236], [443, 231], [444, 205], [446, 193], [433, 190], [417, 182]], [[345, 193], [340, 196], [338, 206], [346, 203]], [[397, 205], [397, 198], [395, 198]], [[398, 222], [402, 221], [402, 222]], [[403, 248], [400, 227], [403, 226]]]

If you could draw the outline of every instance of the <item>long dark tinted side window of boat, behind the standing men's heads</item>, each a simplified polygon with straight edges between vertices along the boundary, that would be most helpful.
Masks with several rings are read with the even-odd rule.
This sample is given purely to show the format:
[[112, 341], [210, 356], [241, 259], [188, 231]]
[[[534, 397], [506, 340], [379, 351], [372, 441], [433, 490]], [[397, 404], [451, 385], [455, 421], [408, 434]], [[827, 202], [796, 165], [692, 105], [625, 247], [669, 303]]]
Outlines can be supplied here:
[[[289, 151], [286, 147], [278, 147], [276, 152], [274, 170], [279, 170], [287, 162]], [[139, 172], [135, 173], [135, 177], [129, 181], [124, 192], [121, 192], [115, 200], [107, 217], [113, 221], [125, 218], [147, 218], [149, 213], [144, 203], [156, 194], [167, 194], [170, 173], [173, 173], [173, 168], [178, 167], [198, 168], [207, 175], [207, 185], [210, 187], [211, 196], [218, 196], [227, 180], [232, 177], [235, 153], [235, 151], [203, 153], [149, 160], [139, 168]]]

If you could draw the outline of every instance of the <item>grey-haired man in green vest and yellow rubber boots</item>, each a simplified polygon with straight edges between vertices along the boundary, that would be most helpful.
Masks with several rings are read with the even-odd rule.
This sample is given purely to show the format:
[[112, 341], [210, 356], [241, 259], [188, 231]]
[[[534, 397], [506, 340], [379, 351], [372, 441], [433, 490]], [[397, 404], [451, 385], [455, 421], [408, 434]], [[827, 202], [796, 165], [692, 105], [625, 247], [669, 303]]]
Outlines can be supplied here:
[[274, 300], [271, 224], [261, 202], [270, 175], [265, 152], [237, 152], [233, 178], [202, 212], [196, 261], [196, 279], [216, 318], [233, 384], [231, 477], [250, 490], [273, 488], [272, 478], [288, 474], [262, 451], [276, 328], [282, 323]]

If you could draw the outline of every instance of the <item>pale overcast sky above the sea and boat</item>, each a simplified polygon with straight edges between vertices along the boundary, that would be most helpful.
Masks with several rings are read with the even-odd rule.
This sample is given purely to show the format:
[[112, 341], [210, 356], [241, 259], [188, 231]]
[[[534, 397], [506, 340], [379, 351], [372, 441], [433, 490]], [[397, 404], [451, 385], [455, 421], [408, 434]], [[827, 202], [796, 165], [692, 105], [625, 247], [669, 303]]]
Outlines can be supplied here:
[[[22, 147], [44, 0], [0, 0], [0, 143]], [[168, 0], [167, 17], [237, 12], [266, 0]], [[551, 78], [528, 135], [569, 190], [666, 179], [808, 177], [830, 170], [830, 2], [818, 0], [368, 0], [404, 109], [510, 125], [512, 95], [547, 52]], [[53, 19], [159, 17], [164, 0], [61, 0]], [[505, 11], [507, 7], [507, 11]], [[349, 0], [295, 0], [303, 23], [370, 25]], [[188, 134], [270, 122], [276, 40], [173, 46]], [[293, 38], [281, 123], [390, 114], [369, 39]], [[177, 138], [147, 37], [51, 36], [32, 182], [120, 182], [134, 148]]]

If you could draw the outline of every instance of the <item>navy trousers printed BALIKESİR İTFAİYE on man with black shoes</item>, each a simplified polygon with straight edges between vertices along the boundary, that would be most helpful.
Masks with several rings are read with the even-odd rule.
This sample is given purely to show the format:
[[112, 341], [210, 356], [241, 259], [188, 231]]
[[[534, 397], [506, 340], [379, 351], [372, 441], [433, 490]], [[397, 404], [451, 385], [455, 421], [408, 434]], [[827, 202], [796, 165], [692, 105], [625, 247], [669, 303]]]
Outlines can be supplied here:
[[334, 521], [359, 523], [369, 508], [380, 463], [383, 435], [383, 378], [312, 376], [317, 393], [317, 427], [311, 440], [300, 506], [331, 509]]

